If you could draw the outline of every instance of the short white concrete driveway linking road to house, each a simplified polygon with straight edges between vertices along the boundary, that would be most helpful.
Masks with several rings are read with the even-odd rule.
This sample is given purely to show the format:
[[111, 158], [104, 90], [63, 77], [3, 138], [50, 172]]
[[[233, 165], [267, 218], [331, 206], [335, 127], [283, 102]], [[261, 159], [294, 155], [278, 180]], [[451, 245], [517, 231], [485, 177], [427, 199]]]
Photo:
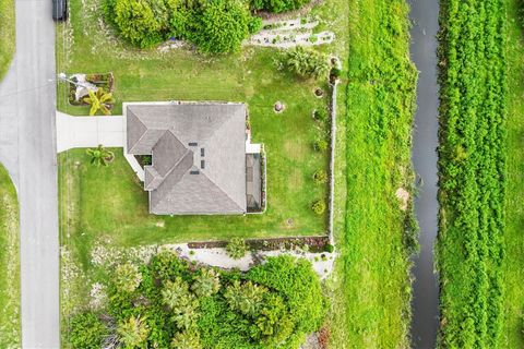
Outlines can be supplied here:
[[103, 144], [123, 147], [126, 122], [122, 116], [72, 117], [57, 111], [57, 153]]

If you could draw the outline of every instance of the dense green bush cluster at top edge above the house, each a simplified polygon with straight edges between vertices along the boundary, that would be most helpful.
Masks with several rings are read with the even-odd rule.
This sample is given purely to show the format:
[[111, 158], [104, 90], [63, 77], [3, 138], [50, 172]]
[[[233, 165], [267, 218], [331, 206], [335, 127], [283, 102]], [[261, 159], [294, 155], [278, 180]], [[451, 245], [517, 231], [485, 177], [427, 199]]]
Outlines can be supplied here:
[[105, 0], [104, 10], [106, 21], [140, 48], [176, 37], [203, 52], [233, 52], [262, 26], [241, 0]]

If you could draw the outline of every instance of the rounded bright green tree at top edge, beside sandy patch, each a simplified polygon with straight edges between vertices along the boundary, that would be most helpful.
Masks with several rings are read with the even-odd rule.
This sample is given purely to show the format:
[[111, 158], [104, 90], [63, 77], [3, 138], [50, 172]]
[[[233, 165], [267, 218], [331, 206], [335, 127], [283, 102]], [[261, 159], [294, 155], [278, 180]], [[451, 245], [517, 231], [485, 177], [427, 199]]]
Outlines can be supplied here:
[[240, 0], [211, 0], [202, 3], [196, 32], [190, 37], [203, 52], [238, 51], [255, 26], [248, 7]]

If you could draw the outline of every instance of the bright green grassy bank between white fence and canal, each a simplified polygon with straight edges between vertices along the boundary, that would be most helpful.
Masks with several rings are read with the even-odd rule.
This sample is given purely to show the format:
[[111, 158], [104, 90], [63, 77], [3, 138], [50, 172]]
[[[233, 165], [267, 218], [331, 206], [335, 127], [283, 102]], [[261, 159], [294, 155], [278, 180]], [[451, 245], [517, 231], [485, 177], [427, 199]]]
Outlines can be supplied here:
[[[333, 348], [407, 348], [410, 320], [410, 128], [416, 72], [406, 1], [349, 1], [345, 221], [334, 281]], [[337, 166], [341, 166], [340, 161]], [[340, 200], [341, 195], [337, 196]], [[407, 228], [407, 229], [406, 229]]]

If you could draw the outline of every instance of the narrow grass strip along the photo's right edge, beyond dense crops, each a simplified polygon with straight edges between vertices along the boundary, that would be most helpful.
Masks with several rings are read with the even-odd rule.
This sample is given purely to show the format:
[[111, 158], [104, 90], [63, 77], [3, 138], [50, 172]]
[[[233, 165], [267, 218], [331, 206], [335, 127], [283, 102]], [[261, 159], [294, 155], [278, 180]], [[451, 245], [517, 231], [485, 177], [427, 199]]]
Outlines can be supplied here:
[[505, 194], [505, 280], [504, 324], [499, 348], [524, 348], [524, 35], [517, 22], [517, 3], [510, 1], [508, 9], [508, 190]]

